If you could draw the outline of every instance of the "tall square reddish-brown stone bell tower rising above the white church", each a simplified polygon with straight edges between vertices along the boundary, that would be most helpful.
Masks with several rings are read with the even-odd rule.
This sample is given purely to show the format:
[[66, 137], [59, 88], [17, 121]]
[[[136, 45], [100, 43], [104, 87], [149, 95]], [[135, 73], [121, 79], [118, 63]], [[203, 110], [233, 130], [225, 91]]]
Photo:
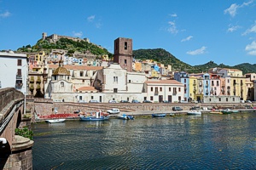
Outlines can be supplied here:
[[113, 62], [132, 71], [132, 39], [119, 37], [114, 40]]

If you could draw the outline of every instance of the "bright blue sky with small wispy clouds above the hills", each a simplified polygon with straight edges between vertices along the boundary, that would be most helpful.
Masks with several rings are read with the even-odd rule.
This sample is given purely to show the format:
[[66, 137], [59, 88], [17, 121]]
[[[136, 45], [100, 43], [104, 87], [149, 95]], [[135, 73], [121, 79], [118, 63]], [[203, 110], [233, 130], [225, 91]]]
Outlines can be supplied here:
[[256, 0], [0, 0], [0, 49], [34, 45], [42, 32], [88, 37], [113, 53], [164, 48], [189, 65], [256, 64]]

